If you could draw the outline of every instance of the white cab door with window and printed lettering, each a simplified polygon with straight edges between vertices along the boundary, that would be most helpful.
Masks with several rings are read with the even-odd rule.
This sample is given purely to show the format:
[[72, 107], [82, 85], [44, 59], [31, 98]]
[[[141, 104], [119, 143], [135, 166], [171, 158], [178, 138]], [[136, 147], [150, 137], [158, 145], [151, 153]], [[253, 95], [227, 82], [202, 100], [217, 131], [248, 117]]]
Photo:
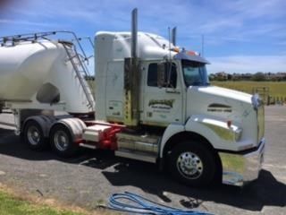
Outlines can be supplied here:
[[178, 65], [164, 63], [164, 84], [158, 85], [157, 62], [144, 66], [146, 79], [143, 90], [143, 124], [167, 126], [171, 123], [182, 124], [182, 88]]

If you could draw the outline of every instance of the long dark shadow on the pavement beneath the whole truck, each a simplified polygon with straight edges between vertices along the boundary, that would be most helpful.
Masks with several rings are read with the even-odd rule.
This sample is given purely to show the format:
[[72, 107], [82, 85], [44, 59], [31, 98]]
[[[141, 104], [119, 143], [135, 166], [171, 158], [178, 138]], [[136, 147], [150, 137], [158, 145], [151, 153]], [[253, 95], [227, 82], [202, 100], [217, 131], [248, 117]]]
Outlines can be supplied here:
[[[261, 211], [264, 206], [286, 206], [286, 185], [277, 181], [267, 170], [262, 170], [256, 182], [243, 188], [230, 185], [193, 188], [172, 181], [168, 173], [160, 173], [156, 165], [116, 158], [112, 151], [84, 150], [73, 159], [59, 159], [51, 151], [32, 151], [21, 142], [20, 137], [13, 134], [13, 130], [2, 128], [0, 154], [29, 160], [56, 159], [101, 169], [111, 185], [135, 186], [146, 193], [155, 194], [164, 202], [172, 202], [170, 195], [175, 193], [181, 196], [180, 203], [187, 208], [196, 208], [205, 201], [228, 204], [249, 211]], [[106, 170], [112, 166], [114, 171]]]

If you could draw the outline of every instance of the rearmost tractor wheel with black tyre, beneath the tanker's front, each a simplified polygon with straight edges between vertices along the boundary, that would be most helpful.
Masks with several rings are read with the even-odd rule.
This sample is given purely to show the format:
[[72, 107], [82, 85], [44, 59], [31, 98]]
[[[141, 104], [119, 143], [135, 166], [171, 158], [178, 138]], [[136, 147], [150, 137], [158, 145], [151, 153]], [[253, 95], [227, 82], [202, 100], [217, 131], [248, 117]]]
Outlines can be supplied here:
[[23, 137], [31, 150], [45, 150], [47, 147], [42, 127], [35, 120], [30, 120], [25, 125]]

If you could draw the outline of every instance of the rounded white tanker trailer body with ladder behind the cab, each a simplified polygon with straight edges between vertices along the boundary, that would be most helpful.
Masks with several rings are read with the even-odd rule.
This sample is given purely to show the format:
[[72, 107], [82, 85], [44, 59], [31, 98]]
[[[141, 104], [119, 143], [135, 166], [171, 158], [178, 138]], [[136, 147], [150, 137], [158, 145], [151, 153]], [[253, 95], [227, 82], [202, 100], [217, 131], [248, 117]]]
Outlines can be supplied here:
[[94, 112], [73, 44], [44, 38], [25, 40], [5, 38], [0, 47], [0, 101], [54, 105], [77, 114]]

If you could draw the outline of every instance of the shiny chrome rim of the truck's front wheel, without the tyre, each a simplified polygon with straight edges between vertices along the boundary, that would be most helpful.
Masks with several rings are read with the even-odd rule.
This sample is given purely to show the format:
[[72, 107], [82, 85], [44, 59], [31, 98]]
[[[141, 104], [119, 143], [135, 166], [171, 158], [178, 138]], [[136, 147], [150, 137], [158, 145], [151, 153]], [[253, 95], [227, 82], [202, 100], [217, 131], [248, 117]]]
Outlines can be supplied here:
[[202, 160], [197, 154], [184, 151], [177, 159], [177, 168], [181, 176], [188, 179], [197, 179], [202, 175], [204, 167]]

